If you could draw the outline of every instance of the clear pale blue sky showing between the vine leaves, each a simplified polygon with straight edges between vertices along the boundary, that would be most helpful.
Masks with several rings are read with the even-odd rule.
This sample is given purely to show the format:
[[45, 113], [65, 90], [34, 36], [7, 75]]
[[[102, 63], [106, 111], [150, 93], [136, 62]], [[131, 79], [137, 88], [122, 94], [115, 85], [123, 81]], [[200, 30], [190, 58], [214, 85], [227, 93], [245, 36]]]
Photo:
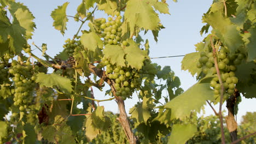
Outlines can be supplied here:
[[[36, 17], [34, 22], [36, 22], [37, 29], [34, 32], [32, 41], [36, 45], [42, 45], [46, 43], [48, 45], [48, 55], [55, 56], [63, 50], [62, 45], [67, 38], [72, 38], [75, 32], [77, 32], [80, 26], [79, 22], [74, 22], [74, 20], [69, 17], [69, 22], [67, 23], [67, 31], [64, 36], [54, 29], [53, 19], [50, 14], [51, 11], [57, 8], [57, 5], [62, 5], [67, 1], [34, 1], [34, 0], [20, 0], [32, 11], [33, 15]], [[67, 15], [74, 16], [76, 13], [77, 6], [82, 2], [82, 0], [69, 1], [67, 8]], [[171, 15], [160, 15], [160, 20], [162, 24], [166, 27], [159, 33], [158, 43], [155, 43], [153, 35], [148, 34], [143, 36], [144, 39], [149, 39], [150, 41], [150, 57], [162, 57], [162, 56], [176, 56], [185, 55], [186, 53], [195, 52], [195, 44], [199, 43], [203, 37], [201, 37], [199, 31], [203, 26], [201, 23], [202, 14], [206, 13], [212, 1], [208, 0], [195, 0], [195, 1], [178, 1], [174, 3], [172, 1], [167, 1], [170, 8]], [[103, 13], [96, 13], [97, 18], [107, 17]], [[84, 25], [83, 29], [88, 29]], [[32, 47], [33, 49], [33, 47]], [[39, 51], [33, 51], [38, 56], [41, 55]], [[161, 58], [152, 59], [154, 63], [158, 63], [161, 66], [170, 65], [174, 73], [181, 79], [182, 88], [184, 90], [188, 89], [196, 80], [192, 77], [188, 71], [181, 70], [181, 61], [183, 57], [176, 58]], [[96, 88], [94, 88], [96, 91]], [[96, 91], [96, 99], [105, 99], [104, 93]], [[106, 97], [107, 98], [107, 97]], [[126, 112], [137, 103], [137, 97], [133, 99], [128, 99], [125, 101]], [[118, 106], [115, 101], [100, 103], [105, 106], [105, 110], [118, 112]], [[242, 99], [242, 103], [239, 105], [240, 110], [238, 111], [237, 119], [240, 122], [241, 116], [245, 115], [247, 111], [256, 111], [256, 99]], [[217, 106], [216, 106], [217, 107]], [[223, 106], [225, 109], [225, 104]], [[213, 114], [213, 111], [209, 106], [206, 106], [206, 115]]]

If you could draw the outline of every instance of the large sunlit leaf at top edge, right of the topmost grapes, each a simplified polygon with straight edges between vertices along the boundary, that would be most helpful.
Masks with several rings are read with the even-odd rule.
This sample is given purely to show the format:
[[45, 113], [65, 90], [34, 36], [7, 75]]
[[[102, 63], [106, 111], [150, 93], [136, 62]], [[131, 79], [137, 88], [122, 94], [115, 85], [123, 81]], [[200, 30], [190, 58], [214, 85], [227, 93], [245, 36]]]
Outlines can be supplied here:
[[149, 1], [128, 1], [124, 16], [126, 22], [129, 22], [131, 33], [134, 32], [135, 26], [146, 30], [158, 30], [160, 19]]

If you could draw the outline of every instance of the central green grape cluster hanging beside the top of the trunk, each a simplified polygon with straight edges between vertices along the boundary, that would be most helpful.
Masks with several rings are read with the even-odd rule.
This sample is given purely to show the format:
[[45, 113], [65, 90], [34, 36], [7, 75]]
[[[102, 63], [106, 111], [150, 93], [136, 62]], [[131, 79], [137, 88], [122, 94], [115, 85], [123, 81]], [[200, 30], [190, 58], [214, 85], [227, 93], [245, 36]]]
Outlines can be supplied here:
[[117, 65], [110, 64], [106, 57], [102, 58], [100, 64], [106, 66], [105, 74], [109, 79], [115, 81], [115, 94], [123, 100], [130, 98], [135, 88], [141, 86], [141, 75], [136, 69], [132, 69], [131, 67], [117, 67]]

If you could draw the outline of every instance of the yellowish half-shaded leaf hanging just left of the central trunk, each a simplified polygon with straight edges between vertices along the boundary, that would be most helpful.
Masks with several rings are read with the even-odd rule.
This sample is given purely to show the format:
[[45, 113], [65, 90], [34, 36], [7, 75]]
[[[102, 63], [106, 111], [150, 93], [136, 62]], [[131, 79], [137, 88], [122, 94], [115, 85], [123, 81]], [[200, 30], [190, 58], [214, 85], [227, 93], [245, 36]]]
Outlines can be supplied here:
[[[91, 109], [91, 106], [88, 109]], [[106, 131], [109, 125], [110, 118], [104, 116], [104, 107], [98, 106], [91, 115], [86, 116], [84, 121], [84, 126], [86, 128], [85, 135], [88, 137], [89, 141], [91, 141], [100, 133], [100, 130]]]

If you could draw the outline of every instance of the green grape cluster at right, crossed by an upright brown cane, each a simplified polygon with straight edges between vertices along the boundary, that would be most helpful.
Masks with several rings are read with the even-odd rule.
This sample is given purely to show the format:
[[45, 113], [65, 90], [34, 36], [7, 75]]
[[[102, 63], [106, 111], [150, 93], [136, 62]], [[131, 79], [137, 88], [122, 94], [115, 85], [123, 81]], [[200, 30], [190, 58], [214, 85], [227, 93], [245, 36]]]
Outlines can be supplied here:
[[[215, 98], [219, 98], [220, 95], [220, 83], [217, 75], [216, 68], [214, 66], [213, 52], [201, 52], [197, 68], [202, 68], [202, 73], [207, 75], [211, 74], [215, 76], [210, 85], [214, 89]], [[224, 86], [224, 100], [229, 98], [229, 95], [234, 93], [234, 89], [238, 79], [235, 75], [236, 65], [241, 64], [242, 59], [245, 56], [242, 53], [229, 53], [225, 47], [222, 47], [217, 52], [217, 63], [220, 71], [220, 77]]]

